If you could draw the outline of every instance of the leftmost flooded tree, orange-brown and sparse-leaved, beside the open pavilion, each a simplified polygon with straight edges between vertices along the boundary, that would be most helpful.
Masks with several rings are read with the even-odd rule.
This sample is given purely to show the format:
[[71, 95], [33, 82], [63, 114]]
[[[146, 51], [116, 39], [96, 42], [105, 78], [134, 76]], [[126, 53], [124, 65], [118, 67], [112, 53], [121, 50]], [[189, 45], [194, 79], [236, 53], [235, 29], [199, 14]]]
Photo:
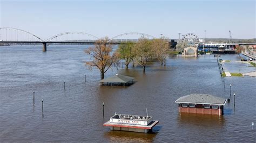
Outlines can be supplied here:
[[86, 61], [85, 65], [92, 67], [97, 67], [100, 70], [100, 76], [104, 79], [104, 73], [111, 67], [118, 64], [118, 58], [116, 53], [112, 52], [112, 45], [107, 44], [109, 39], [107, 37], [99, 39], [96, 41], [96, 44], [93, 47], [85, 49], [85, 53], [91, 55], [93, 58], [92, 61]]

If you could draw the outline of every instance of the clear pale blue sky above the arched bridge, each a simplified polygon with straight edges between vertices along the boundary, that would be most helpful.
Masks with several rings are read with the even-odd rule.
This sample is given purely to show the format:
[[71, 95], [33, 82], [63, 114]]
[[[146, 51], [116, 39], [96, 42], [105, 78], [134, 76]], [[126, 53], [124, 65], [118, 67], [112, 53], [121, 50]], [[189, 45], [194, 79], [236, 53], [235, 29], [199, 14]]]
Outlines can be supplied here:
[[[1, 1], [1, 0], [0, 0]], [[79, 31], [97, 37], [142, 32], [200, 38], [255, 38], [255, 1], [1, 1], [0, 26], [43, 39]]]

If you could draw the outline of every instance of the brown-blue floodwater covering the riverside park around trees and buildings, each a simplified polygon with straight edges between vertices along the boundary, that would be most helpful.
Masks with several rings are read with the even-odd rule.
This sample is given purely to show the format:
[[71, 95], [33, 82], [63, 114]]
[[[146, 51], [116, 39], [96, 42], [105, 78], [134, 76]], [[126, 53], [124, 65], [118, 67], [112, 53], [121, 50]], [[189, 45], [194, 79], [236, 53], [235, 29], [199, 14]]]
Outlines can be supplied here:
[[[213, 55], [170, 56], [166, 67], [154, 63], [145, 73], [140, 67], [107, 71], [105, 77], [116, 73], [135, 77], [137, 82], [130, 87], [100, 86], [98, 69], [84, 66], [90, 60], [83, 52], [87, 47], [48, 46], [47, 52], [42, 52], [42, 46], [0, 47], [1, 142], [256, 141], [256, 126], [252, 126], [256, 123], [255, 77], [226, 77], [224, 89]], [[230, 98], [230, 84], [232, 97], [224, 106], [224, 116], [179, 115], [174, 101], [180, 96], [199, 93]], [[103, 126], [114, 112], [146, 115], [146, 108], [160, 121], [153, 133], [110, 131]]]

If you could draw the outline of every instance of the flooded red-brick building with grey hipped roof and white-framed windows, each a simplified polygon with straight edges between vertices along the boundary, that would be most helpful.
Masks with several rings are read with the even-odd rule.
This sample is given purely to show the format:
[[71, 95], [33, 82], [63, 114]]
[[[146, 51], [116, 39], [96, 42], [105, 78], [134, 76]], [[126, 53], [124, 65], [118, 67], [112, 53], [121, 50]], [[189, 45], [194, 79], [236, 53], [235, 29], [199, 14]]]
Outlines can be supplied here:
[[213, 95], [191, 94], [180, 97], [175, 103], [179, 103], [180, 113], [224, 115], [226, 101], [224, 98]]

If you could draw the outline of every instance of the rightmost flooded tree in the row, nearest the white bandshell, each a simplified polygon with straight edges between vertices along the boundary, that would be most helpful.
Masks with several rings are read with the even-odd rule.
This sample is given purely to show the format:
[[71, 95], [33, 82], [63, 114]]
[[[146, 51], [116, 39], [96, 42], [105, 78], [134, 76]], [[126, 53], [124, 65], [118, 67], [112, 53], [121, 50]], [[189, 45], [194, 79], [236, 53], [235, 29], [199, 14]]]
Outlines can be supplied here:
[[165, 37], [161, 37], [160, 39], [153, 40], [154, 47], [154, 55], [157, 60], [161, 62], [161, 65], [166, 66], [166, 57], [168, 56], [169, 51], [169, 42]]

